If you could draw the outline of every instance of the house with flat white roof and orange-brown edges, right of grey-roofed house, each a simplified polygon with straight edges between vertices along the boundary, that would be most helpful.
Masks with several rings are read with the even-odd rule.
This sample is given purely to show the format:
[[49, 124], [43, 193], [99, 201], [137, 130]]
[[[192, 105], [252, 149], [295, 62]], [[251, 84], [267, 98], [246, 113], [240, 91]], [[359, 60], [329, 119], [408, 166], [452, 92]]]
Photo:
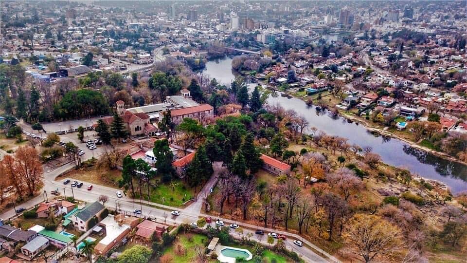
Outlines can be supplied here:
[[119, 214], [116, 216], [108, 215], [99, 225], [105, 227], [106, 237], [99, 241], [94, 247], [94, 251], [98, 255], [105, 255], [110, 249], [118, 244], [121, 244], [126, 235], [131, 231], [132, 227], [138, 224], [138, 218], [126, 217]]

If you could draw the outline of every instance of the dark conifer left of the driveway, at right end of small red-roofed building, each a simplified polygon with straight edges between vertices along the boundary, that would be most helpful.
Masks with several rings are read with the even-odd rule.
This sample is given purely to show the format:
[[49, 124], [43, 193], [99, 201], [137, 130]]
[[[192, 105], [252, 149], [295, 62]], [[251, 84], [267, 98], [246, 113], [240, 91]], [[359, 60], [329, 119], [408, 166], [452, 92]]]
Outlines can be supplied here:
[[206, 148], [204, 146], [200, 146], [187, 170], [188, 181], [192, 187], [195, 187], [195, 192], [196, 187], [201, 182], [208, 180], [213, 172], [213, 164], [208, 157]]

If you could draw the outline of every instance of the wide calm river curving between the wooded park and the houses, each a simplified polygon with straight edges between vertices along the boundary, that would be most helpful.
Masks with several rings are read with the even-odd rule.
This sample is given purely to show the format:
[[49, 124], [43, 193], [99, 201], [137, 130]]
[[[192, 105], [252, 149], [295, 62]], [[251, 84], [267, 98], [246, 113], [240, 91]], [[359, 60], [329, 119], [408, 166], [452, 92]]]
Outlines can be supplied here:
[[[232, 70], [232, 58], [207, 62], [203, 73], [226, 85], [230, 84], [236, 75]], [[386, 164], [405, 168], [413, 174], [443, 182], [453, 193], [467, 190], [467, 166], [465, 165], [414, 149], [396, 138], [377, 137], [362, 125], [347, 123], [342, 117], [332, 118], [327, 113], [318, 114], [314, 106], [308, 107], [304, 101], [295, 97], [269, 96], [268, 103], [279, 104], [286, 110], [295, 110], [305, 116], [310, 127], [316, 127], [319, 131], [348, 138], [349, 143], [358, 144], [360, 147], [371, 146], [374, 152], [381, 155]]]

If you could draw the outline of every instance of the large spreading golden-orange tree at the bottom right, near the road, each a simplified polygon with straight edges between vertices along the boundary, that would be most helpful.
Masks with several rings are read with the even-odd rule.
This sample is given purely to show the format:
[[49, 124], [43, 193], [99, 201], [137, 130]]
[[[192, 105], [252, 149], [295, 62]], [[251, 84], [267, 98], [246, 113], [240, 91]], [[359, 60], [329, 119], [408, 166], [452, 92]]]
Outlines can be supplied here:
[[376, 215], [354, 215], [343, 237], [365, 262], [373, 261], [380, 254], [392, 255], [402, 248], [399, 228]]

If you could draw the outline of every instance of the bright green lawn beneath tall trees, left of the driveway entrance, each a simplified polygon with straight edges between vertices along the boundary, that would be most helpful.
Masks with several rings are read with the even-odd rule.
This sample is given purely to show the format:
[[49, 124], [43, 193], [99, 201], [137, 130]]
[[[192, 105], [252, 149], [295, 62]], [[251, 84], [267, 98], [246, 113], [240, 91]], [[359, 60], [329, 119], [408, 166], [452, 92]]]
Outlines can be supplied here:
[[[175, 183], [175, 187], [172, 184]], [[198, 186], [199, 191], [202, 186]], [[163, 204], [171, 207], [181, 207], [181, 205], [195, 196], [195, 188], [186, 186], [180, 179], [172, 179], [168, 184], [160, 184], [156, 189], [150, 191], [151, 202]], [[139, 194], [135, 194], [139, 198]], [[143, 198], [147, 200], [147, 188], [143, 188]]]

